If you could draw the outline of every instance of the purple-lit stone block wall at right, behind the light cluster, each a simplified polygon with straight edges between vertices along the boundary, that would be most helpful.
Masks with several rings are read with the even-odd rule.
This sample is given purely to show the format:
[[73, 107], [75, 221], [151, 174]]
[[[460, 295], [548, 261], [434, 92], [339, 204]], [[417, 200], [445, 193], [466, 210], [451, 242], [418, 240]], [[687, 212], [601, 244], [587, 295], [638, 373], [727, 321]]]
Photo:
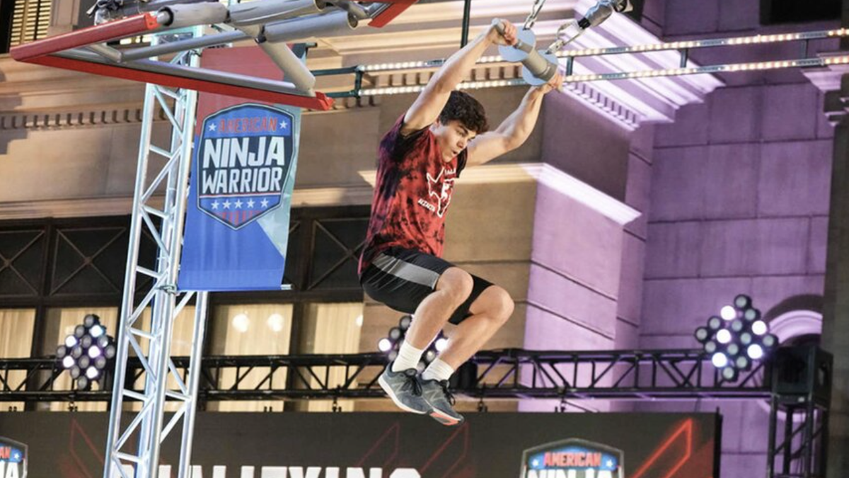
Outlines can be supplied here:
[[[649, 29], [666, 40], [767, 31], [759, 0], [647, 0]], [[833, 25], [836, 25], [833, 24]], [[830, 26], [833, 26], [830, 25]], [[809, 31], [823, 25], [771, 26]], [[835, 48], [817, 43], [816, 50]], [[791, 58], [797, 44], [721, 48], [702, 65]], [[701, 105], [655, 127], [644, 264], [644, 348], [694, 347], [692, 332], [736, 293], [764, 312], [785, 299], [822, 296], [833, 129], [823, 98], [800, 71], [733, 74]], [[725, 416], [722, 478], [763, 475], [766, 407], [751, 401], [639, 403]]]

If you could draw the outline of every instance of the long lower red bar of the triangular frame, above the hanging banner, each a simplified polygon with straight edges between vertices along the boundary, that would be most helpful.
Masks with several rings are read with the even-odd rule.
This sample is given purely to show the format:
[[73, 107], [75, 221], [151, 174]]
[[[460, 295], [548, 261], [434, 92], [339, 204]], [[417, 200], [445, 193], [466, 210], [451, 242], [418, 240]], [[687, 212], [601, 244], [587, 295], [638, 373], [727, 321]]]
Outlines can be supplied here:
[[55, 68], [63, 68], [65, 70], [82, 71], [104, 77], [121, 78], [124, 80], [132, 80], [142, 83], [154, 83], [171, 88], [188, 88], [203, 91], [205, 93], [223, 94], [226, 96], [235, 96], [237, 98], [247, 98], [249, 100], [267, 101], [268, 103], [282, 103], [284, 105], [299, 106], [301, 108], [308, 108], [311, 110], [327, 111], [333, 106], [333, 99], [328, 98], [327, 95], [320, 92], [316, 92], [314, 97], [301, 96], [298, 94], [277, 93], [265, 89], [247, 88], [224, 83], [196, 80], [194, 78], [179, 77], [177, 75], [168, 75], [165, 73], [140, 71], [118, 65], [103, 65], [92, 61], [71, 60], [70, 58], [61, 58], [58, 56], [42, 56], [27, 61], [37, 65], [53, 66]]

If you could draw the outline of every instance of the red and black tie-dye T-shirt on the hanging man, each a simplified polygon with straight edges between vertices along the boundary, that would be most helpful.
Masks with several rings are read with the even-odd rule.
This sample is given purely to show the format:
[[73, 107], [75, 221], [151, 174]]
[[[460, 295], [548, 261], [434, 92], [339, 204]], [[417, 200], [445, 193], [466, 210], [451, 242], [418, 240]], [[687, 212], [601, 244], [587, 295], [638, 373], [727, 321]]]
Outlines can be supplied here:
[[377, 180], [359, 273], [372, 259], [392, 248], [419, 250], [440, 257], [445, 213], [454, 180], [466, 165], [466, 151], [442, 161], [430, 128], [400, 134], [404, 117], [380, 140]]

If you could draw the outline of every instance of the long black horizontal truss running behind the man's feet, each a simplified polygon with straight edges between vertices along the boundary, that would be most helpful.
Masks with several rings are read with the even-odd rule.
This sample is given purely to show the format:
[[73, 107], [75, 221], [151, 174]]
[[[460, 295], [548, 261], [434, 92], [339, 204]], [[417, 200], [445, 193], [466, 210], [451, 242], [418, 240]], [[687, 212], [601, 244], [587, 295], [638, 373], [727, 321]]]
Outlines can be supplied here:
[[[185, 377], [188, 357], [172, 357]], [[469, 399], [768, 399], [771, 362], [756, 365], [734, 382], [723, 380], [701, 350], [536, 351], [489, 350], [471, 361], [474, 378], [457, 384]], [[206, 356], [200, 362], [198, 399], [315, 400], [383, 398], [377, 376], [384, 354], [312, 356]], [[294, 379], [275, 381], [281, 370]], [[230, 371], [231, 373], [224, 373]], [[25, 372], [17, 383], [9, 373]], [[105, 401], [111, 390], [55, 390], [57, 361], [0, 360], [0, 401]], [[128, 386], [144, 373], [137, 358], [127, 362]], [[245, 378], [252, 374], [248, 385]], [[459, 373], [462, 375], [463, 373]], [[232, 376], [225, 381], [222, 377]], [[331, 377], [342, 377], [332, 380]], [[132, 388], [128, 388], [131, 390]]]

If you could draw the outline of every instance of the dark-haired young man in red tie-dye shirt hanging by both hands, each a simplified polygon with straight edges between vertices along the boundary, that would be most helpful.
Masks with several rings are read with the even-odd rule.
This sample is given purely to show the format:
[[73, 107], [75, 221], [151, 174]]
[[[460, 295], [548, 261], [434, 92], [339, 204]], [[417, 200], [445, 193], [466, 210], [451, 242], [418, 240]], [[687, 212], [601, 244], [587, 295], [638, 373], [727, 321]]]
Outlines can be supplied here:
[[[516, 33], [509, 23], [503, 35], [490, 27], [453, 54], [380, 141], [360, 282], [371, 298], [414, 318], [396, 360], [379, 382], [398, 407], [430, 414], [441, 424], [463, 421], [453, 409], [448, 378], [513, 312], [513, 301], [502, 287], [441, 259], [454, 181], [464, 168], [522, 145], [537, 122], [543, 95], [563, 82], [557, 74], [530, 88], [518, 108], [487, 131], [481, 104], [454, 88], [486, 48], [512, 45]], [[419, 376], [416, 366], [443, 328], [447, 347]]]

